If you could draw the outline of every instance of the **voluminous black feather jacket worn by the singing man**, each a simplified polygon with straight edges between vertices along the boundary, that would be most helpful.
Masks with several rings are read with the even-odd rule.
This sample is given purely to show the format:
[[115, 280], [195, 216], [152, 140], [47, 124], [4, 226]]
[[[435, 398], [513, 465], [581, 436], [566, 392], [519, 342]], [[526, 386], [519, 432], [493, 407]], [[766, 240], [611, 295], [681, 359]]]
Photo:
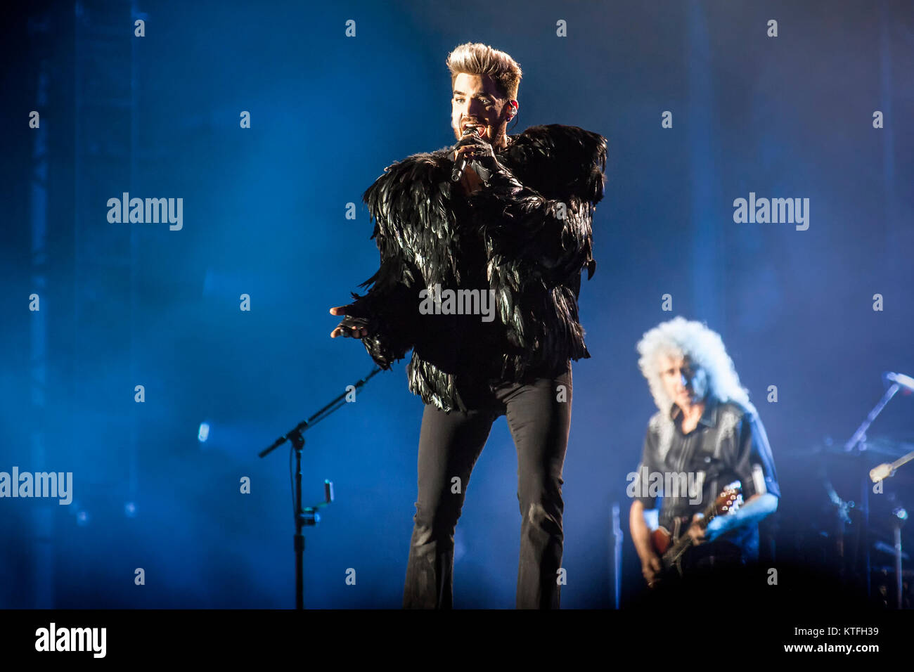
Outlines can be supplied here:
[[[593, 275], [591, 221], [603, 197], [606, 139], [576, 126], [533, 126], [495, 151], [504, 171], [467, 196], [452, 148], [389, 165], [363, 199], [378, 271], [352, 293], [341, 326], [381, 368], [406, 356], [409, 390], [442, 411], [475, 406], [493, 381], [521, 382], [590, 357], [579, 324], [580, 272]], [[420, 291], [479, 289], [494, 319], [423, 315]]]

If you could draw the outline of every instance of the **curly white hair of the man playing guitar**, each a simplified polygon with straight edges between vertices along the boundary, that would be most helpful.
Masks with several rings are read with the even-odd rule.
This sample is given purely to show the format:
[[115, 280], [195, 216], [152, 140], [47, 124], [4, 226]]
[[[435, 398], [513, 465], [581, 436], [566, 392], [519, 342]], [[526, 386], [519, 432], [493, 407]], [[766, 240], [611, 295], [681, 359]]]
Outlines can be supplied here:
[[688, 357], [707, 373], [708, 394], [720, 402], [732, 401], [745, 408], [749, 404], [749, 390], [739, 384], [733, 360], [727, 354], [724, 342], [716, 331], [700, 322], [677, 316], [656, 325], [638, 342], [638, 367], [654, 396], [654, 403], [663, 413], [669, 413], [673, 400], [669, 398], [660, 378], [658, 358]]

